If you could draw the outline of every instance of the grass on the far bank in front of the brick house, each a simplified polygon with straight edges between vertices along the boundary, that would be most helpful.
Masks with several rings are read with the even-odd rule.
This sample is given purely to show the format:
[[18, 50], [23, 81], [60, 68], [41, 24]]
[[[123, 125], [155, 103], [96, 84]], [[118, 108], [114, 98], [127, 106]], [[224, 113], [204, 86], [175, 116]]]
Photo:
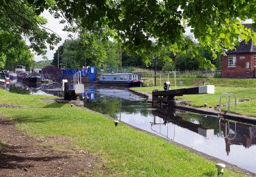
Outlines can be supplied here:
[[[177, 86], [177, 88], [184, 88], [188, 86], [199, 86], [204, 83], [214, 84], [215, 93], [208, 95], [184, 95], [182, 97], [176, 97], [177, 99], [186, 99], [190, 101], [190, 106], [203, 107], [205, 103], [209, 107], [219, 105], [220, 96], [222, 93], [233, 93], [236, 95], [238, 105], [237, 113], [247, 116], [256, 116], [256, 80], [254, 79], [223, 79], [223, 78], [208, 78], [208, 79], [178, 79], [183, 81], [183, 86]], [[160, 84], [155, 87], [160, 90]], [[134, 91], [143, 91], [145, 93], [152, 93], [153, 86], [132, 88]], [[174, 89], [173, 83], [171, 83], [171, 89]], [[162, 88], [163, 90], [163, 83]], [[249, 101], [239, 102], [240, 99], [249, 99]], [[234, 97], [231, 97], [231, 112], [235, 112]], [[222, 105], [225, 104], [225, 97], [223, 96]]]

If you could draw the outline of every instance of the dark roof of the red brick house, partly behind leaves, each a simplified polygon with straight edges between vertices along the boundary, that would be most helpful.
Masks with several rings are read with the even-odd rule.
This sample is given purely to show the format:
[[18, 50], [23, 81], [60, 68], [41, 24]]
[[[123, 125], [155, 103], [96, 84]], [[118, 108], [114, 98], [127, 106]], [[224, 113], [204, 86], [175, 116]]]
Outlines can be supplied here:
[[[243, 24], [244, 27], [250, 28], [252, 24]], [[252, 30], [256, 32], [256, 29]], [[235, 46], [236, 49], [227, 50], [226, 54], [238, 54], [238, 53], [256, 53], [256, 46], [252, 40], [249, 40], [247, 43], [245, 41], [240, 42], [239, 46]]]

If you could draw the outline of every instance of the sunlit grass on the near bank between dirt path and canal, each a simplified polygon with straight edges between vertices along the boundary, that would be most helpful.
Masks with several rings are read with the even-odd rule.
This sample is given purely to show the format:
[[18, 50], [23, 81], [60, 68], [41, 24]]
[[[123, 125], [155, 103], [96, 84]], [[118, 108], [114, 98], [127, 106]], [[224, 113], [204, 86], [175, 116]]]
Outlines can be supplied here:
[[[1, 89], [0, 103], [23, 106], [0, 108], [0, 114], [29, 135], [69, 138], [75, 146], [100, 156], [106, 170], [97, 176], [217, 176], [211, 161], [123, 123], [115, 127], [102, 114]], [[240, 175], [227, 170], [224, 176]]]

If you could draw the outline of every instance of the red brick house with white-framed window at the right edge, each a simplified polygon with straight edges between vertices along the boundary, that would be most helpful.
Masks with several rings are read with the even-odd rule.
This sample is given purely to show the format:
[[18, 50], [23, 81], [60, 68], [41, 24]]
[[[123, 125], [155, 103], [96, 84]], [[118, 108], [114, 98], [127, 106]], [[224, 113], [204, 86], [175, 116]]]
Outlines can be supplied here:
[[[251, 28], [251, 24], [245, 24]], [[242, 41], [236, 50], [228, 50], [222, 59], [223, 78], [256, 78], [256, 46]]]

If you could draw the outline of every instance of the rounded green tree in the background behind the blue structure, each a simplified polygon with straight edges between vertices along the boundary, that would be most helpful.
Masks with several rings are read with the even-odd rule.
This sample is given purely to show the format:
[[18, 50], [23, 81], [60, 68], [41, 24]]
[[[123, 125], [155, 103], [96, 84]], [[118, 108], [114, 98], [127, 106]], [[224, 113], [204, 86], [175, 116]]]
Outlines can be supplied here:
[[[107, 58], [104, 45], [98, 36], [83, 32], [78, 39], [66, 40], [59, 47], [59, 63], [68, 68], [84, 65], [100, 67]], [[54, 54], [53, 65], [57, 66], [57, 51]]]

